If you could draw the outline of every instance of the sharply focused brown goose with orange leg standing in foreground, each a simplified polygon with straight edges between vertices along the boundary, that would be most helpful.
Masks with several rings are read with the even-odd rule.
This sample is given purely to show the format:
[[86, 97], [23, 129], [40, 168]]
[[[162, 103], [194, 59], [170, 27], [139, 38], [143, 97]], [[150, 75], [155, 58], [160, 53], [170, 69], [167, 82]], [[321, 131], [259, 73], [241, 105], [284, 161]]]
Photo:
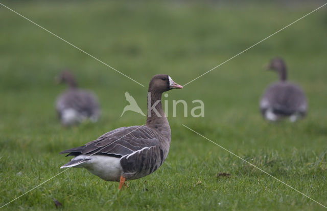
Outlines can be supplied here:
[[83, 146], [60, 152], [74, 156], [60, 168], [84, 167], [103, 180], [119, 181], [119, 189], [126, 180], [153, 173], [165, 161], [171, 140], [161, 94], [182, 88], [166, 74], [153, 76], [149, 83], [148, 116], [144, 125], [118, 128]]

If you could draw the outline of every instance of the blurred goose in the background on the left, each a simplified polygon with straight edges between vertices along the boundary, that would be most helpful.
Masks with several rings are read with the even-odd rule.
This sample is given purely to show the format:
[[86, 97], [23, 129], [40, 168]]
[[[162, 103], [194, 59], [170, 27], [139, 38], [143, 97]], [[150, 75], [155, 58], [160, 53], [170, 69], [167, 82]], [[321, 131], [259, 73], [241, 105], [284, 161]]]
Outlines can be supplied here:
[[66, 82], [68, 89], [56, 100], [56, 110], [63, 125], [77, 124], [87, 118], [98, 120], [100, 109], [97, 97], [88, 91], [77, 88], [71, 72], [63, 71], [56, 78], [58, 83]]

